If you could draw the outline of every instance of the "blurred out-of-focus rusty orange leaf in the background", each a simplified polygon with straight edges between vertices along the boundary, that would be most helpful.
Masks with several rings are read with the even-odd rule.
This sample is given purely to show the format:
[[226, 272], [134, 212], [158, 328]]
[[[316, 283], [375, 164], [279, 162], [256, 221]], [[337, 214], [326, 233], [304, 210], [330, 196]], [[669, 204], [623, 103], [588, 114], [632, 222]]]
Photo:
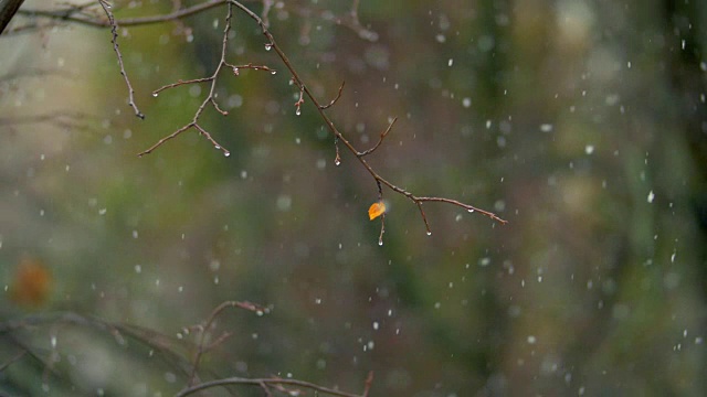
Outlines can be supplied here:
[[27, 308], [39, 308], [46, 302], [52, 287], [52, 275], [35, 259], [22, 259], [18, 266], [10, 299]]

